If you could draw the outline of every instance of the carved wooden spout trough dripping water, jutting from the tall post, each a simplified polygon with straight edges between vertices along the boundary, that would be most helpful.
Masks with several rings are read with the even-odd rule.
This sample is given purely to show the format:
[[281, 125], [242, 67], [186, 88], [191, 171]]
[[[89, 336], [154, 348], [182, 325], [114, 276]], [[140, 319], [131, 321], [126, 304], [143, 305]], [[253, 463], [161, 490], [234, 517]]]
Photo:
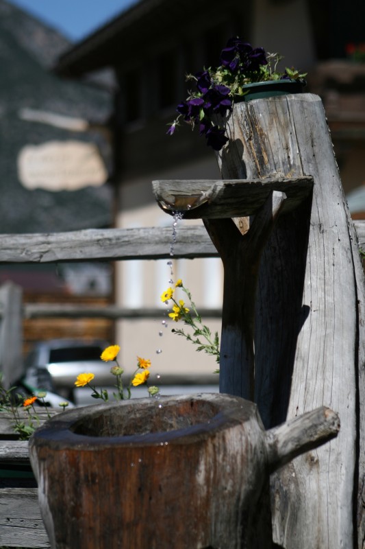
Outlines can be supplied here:
[[182, 211], [186, 219], [222, 219], [257, 213], [273, 191], [286, 194], [284, 211], [295, 209], [312, 192], [313, 178], [160, 180], [152, 186], [167, 213]]

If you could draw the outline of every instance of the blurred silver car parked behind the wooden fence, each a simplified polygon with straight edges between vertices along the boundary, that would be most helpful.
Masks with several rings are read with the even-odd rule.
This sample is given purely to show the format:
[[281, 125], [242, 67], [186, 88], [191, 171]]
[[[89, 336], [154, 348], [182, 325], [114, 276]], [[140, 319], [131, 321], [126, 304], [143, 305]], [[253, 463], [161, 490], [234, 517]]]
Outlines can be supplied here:
[[[57, 393], [72, 399], [75, 380], [79, 373], [95, 374], [97, 386], [110, 385], [110, 364], [103, 362], [100, 355], [108, 347], [103, 340], [70, 340], [58, 339], [38, 342], [25, 359], [25, 382], [42, 386], [46, 370]], [[47, 390], [47, 386], [43, 387]], [[51, 388], [49, 388], [51, 390]]]

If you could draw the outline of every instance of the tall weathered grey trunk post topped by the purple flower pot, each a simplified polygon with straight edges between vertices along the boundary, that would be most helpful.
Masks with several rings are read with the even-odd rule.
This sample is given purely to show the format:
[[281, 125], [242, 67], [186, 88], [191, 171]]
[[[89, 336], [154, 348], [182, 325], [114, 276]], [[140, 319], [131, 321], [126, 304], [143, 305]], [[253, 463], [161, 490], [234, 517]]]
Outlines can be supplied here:
[[[358, 515], [362, 547], [364, 274], [323, 105], [310, 94], [238, 104], [228, 131], [223, 178], [314, 177], [312, 200], [279, 217], [262, 255], [255, 313], [260, 414], [272, 426], [324, 405], [342, 423], [335, 441], [273, 477], [274, 541], [287, 549], [357, 547]], [[236, 387], [229, 392], [237, 394]]]

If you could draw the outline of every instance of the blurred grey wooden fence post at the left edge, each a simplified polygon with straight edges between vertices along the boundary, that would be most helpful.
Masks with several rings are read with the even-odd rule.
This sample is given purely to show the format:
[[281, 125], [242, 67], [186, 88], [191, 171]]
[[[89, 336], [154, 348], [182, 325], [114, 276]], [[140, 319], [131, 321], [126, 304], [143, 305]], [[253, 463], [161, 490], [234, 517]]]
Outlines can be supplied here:
[[0, 371], [10, 387], [23, 374], [23, 292], [12, 282], [0, 288]]

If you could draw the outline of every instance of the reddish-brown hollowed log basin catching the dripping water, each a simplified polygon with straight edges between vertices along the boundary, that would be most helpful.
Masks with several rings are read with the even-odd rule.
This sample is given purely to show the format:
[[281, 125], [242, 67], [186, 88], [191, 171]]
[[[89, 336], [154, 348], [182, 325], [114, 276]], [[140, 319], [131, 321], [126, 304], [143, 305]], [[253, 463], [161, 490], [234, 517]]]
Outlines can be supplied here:
[[29, 452], [52, 548], [238, 549], [283, 447], [255, 404], [205, 394], [62, 412]]

